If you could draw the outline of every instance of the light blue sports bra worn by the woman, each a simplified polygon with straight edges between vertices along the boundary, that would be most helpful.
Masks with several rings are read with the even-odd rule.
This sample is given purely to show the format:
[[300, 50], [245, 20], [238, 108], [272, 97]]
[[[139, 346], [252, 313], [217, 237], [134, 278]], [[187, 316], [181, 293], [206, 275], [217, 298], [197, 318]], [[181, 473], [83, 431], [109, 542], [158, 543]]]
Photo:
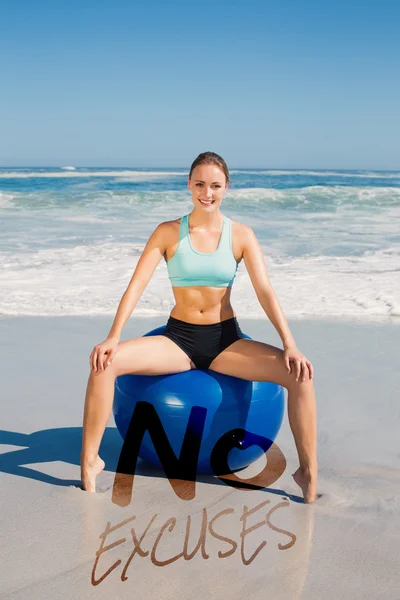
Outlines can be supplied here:
[[224, 216], [222, 234], [214, 252], [198, 252], [189, 234], [189, 215], [181, 219], [179, 243], [174, 256], [167, 261], [168, 276], [176, 287], [230, 287], [238, 263], [232, 250], [232, 221]]

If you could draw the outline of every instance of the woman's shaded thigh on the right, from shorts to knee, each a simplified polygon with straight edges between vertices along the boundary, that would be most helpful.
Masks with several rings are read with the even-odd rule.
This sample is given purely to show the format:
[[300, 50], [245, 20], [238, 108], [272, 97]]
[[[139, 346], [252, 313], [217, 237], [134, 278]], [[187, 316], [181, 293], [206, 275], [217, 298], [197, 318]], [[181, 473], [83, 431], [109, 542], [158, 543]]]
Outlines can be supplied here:
[[288, 389], [296, 384], [295, 370], [288, 372], [283, 350], [255, 340], [237, 340], [213, 360], [209, 369], [249, 381], [271, 381]]

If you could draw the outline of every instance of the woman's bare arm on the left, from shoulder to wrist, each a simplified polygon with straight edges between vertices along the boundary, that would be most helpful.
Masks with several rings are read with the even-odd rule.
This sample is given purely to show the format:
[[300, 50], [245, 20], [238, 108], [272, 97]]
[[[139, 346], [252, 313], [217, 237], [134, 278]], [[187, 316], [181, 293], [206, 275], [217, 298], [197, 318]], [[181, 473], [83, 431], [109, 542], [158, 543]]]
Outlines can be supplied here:
[[119, 303], [109, 338], [121, 337], [122, 329], [149, 283], [168, 245], [169, 223], [160, 223], [150, 236]]

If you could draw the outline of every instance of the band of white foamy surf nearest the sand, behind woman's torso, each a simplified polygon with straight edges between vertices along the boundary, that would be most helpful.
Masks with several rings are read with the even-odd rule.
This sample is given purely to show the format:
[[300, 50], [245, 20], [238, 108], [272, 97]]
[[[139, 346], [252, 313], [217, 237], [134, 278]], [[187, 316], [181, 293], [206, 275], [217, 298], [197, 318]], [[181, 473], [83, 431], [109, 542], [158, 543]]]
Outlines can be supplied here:
[[[113, 315], [137, 265], [142, 244], [102, 243], [0, 255], [0, 314]], [[266, 259], [288, 317], [400, 317], [400, 254], [396, 247], [359, 257]], [[167, 315], [173, 295], [164, 261], [135, 314]], [[232, 290], [239, 316], [265, 317], [243, 264]]]

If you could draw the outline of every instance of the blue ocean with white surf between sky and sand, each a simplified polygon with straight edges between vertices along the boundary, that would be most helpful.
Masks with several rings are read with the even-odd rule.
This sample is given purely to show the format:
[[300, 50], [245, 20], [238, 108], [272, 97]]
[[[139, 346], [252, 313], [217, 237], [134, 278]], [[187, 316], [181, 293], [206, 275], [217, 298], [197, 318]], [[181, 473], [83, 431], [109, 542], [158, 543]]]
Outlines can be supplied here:
[[[0, 315], [114, 315], [187, 169], [1, 168]], [[250, 225], [289, 318], [400, 322], [400, 171], [232, 169], [222, 212]], [[244, 264], [238, 317], [264, 315]], [[168, 315], [162, 261], [135, 315]]]

